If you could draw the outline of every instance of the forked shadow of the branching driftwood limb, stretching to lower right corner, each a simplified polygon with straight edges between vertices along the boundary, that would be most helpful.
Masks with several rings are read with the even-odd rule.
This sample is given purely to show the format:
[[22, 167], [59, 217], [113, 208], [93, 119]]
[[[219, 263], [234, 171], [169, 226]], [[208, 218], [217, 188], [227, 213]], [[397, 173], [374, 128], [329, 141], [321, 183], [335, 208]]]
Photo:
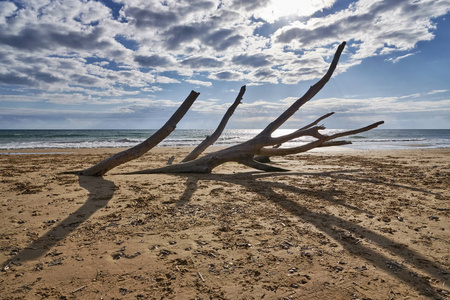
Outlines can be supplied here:
[[[355, 243], [353, 239], [345, 239], [342, 238], [342, 231], [349, 231], [355, 233], [358, 236], [362, 236], [364, 238], [372, 241], [372, 245], [376, 244], [378, 247], [387, 250], [391, 254], [396, 257], [401, 258], [401, 260], [406, 261], [408, 264], [414, 266], [417, 270], [421, 270], [428, 275], [439, 279], [442, 282], [449, 281], [450, 276], [448, 276], [448, 270], [444, 269], [442, 266], [437, 263], [429, 260], [424, 255], [405, 248], [404, 245], [395, 242], [383, 235], [380, 235], [368, 228], [362, 227], [358, 224], [349, 222], [340, 217], [330, 215], [327, 213], [321, 213], [316, 211], [311, 211], [310, 209], [302, 206], [299, 202], [288, 198], [286, 195], [275, 192], [275, 189], [285, 190], [294, 192], [296, 194], [306, 194], [310, 197], [315, 197], [319, 200], [329, 201], [329, 192], [333, 191], [321, 191], [317, 192], [315, 190], [306, 190], [301, 189], [296, 186], [288, 185], [282, 182], [273, 182], [273, 181], [264, 181], [266, 177], [273, 176], [286, 176], [286, 175], [305, 175], [306, 173], [285, 173], [283, 175], [278, 174], [268, 174], [268, 173], [241, 173], [241, 174], [214, 174], [211, 175], [177, 175], [177, 176], [188, 176], [188, 181], [190, 182], [198, 182], [201, 180], [204, 181], [222, 181], [231, 184], [241, 185], [245, 187], [247, 190], [260, 194], [264, 198], [269, 201], [274, 202], [279, 205], [281, 208], [285, 209], [289, 213], [303, 219], [305, 222], [308, 222], [314, 225], [317, 229], [326, 233], [329, 237], [333, 238], [337, 243], [341, 244], [344, 249], [346, 249], [349, 253], [352, 253], [355, 256], [359, 256], [366, 261], [374, 264], [378, 269], [382, 269], [398, 279], [402, 280], [413, 289], [416, 289], [420, 294], [433, 297], [435, 299], [444, 299], [438, 291], [436, 291], [427, 280], [423, 279], [415, 273], [414, 271], [408, 269], [407, 266], [402, 265], [401, 263], [393, 262], [392, 258], [379, 253], [368, 246], [365, 246], [364, 243]], [[325, 173], [308, 173], [308, 175], [313, 176], [329, 176], [328, 172]], [[343, 178], [349, 180], [349, 178]], [[360, 179], [355, 179], [356, 181], [362, 181]], [[371, 182], [371, 181], [368, 181]], [[373, 183], [373, 182], [372, 182]], [[382, 182], [378, 182], [380, 184]], [[390, 184], [389, 184], [390, 185]], [[394, 185], [396, 186], [396, 185]], [[401, 186], [403, 188], [408, 188], [407, 186]], [[408, 188], [412, 190], [417, 190], [416, 188]], [[190, 189], [189, 192], [185, 192], [183, 194], [183, 203], [187, 203], [186, 197], [188, 195], [192, 196], [195, 191]], [[424, 191], [426, 192], [426, 191]], [[339, 204], [340, 203], [336, 203]], [[357, 208], [353, 208], [357, 211]]]

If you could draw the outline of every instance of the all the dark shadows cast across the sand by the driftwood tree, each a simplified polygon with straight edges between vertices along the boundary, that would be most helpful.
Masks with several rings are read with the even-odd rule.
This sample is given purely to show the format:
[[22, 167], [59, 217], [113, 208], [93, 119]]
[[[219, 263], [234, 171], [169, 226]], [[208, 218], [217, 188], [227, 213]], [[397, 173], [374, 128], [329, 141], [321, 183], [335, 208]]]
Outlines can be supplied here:
[[[333, 195], [336, 193], [335, 190], [327, 191], [322, 189], [321, 191], [317, 191], [315, 189], [300, 188], [298, 186], [289, 185], [280, 181], [264, 180], [264, 178], [266, 177], [274, 178], [276, 176], [292, 177], [308, 175], [318, 177], [332, 177], [337, 180], [350, 180], [357, 183], [367, 182], [385, 184], [387, 186], [392, 186], [395, 188], [404, 188], [412, 191], [429, 193], [429, 191], [421, 190], [416, 187], [408, 187], [396, 184], [392, 185], [390, 183], [378, 181], [374, 182], [373, 180], [355, 178], [351, 175], [343, 174], [350, 174], [353, 172], [357, 171], [283, 174], [248, 172], [239, 174], [214, 174], [213, 176], [211, 176], [210, 174], [178, 174], [175, 176], [186, 178], [187, 182], [186, 189], [180, 196], [180, 199], [176, 205], [178, 207], [181, 207], [191, 200], [193, 194], [198, 188], [199, 181], [219, 181], [234, 185], [241, 185], [248, 191], [261, 195], [263, 198], [275, 203], [290, 214], [295, 215], [298, 218], [303, 219], [305, 222], [314, 225], [317, 229], [321, 230], [329, 237], [333, 238], [337, 243], [341, 244], [341, 246], [349, 253], [371, 262], [377, 268], [392, 274], [392, 276], [395, 276], [401, 281], [405, 282], [405, 284], [408, 284], [411, 288], [416, 289], [419, 293], [429, 297], [434, 297], [436, 299], [444, 299], [444, 297], [442, 297], [426, 279], [422, 278], [413, 270], [408, 269], [406, 266], [401, 266], [400, 268], [393, 269], [392, 265], [388, 264], [391, 258], [380, 253], [379, 251], [375, 251], [373, 249], [373, 246], [384, 249], [394, 256], [407, 261], [417, 270], [425, 272], [426, 274], [441, 281], [448, 282], [450, 279], [448, 278], [448, 271], [443, 269], [442, 266], [429, 260], [424, 255], [414, 250], [407, 249], [402, 244], [395, 242], [394, 240], [391, 240], [383, 235], [380, 235], [368, 228], [362, 227], [338, 216], [312, 211], [303, 206], [295, 199], [290, 199], [288, 196], [282, 194], [281, 192], [277, 192], [276, 190], [287, 191], [295, 193], [297, 195], [305, 195], [310, 198], [314, 198], [320, 201], [327, 201], [336, 205], [343, 205], [355, 212], [369, 212], [355, 206], [335, 201], [335, 199], [333, 198]], [[53, 247], [57, 245], [59, 241], [63, 240], [72, 232], [74, 232], [95, 212], [97, 212], [101, 208], [104, 208], [112, 199], [114, 191], [116, 190], [116, 185], [112, 181], [105, 180], [102, 177], [80, 176], [79, 184], [81, 187], [89, 191], [89, 197], [86, 202], [70, 216], [58, 223], [54, 228], [52, 228], [38, 240], [31, 243], [28, 247], [20, 251], [16, 256], [9, 259], [3, 265], [9, 265], [14, 262], [33, 260], [49, 252]], [[352, 240], [342, 239], [342, 231], [348, 230], [349, 228], [351, 228], [352, 232], [354, 232], [355, 234], [364, 236], [365, 238], [371, 240], [372, 248], [365, 246], [363, 243], [356, 244]]]

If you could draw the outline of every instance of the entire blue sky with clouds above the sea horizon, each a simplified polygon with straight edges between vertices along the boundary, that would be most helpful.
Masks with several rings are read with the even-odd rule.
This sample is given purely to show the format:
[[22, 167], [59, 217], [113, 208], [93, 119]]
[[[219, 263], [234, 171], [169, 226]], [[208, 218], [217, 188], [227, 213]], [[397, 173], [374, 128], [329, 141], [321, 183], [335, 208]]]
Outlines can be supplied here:
[[450, 0], [0, 0], [0, 129], [450, 129]]

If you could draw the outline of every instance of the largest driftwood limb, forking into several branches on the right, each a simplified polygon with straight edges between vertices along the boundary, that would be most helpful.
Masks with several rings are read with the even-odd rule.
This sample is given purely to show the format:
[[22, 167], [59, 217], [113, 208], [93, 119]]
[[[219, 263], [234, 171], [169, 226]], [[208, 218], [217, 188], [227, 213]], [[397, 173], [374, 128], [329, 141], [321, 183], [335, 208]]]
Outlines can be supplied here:
[[[294, 102], [286, 111], [284, 111], [277, 119], [275, 119], [272, 123], [270, 123], [261, 133], [259, 133], [254, 138], [224, 150], [220, 150], [217, 152], [210, 153], [201, 158], [182, 162], [180, 164], [170, 165], [157, 169], [148, 169], [137, 172], [132, 172], [131, 174], [150, 174], [150, 173], [210, 173], [215, 167], [225, 163], [225, 162], [238, 162], [244, 164], [246, 166], [267, 171], [267, 172], [281, 172], [287, 171], [285, 169], [281, 169], [278, 167], [270, 166], [264, 163], [261, 163], [255, 160], [256, 155], [260, 156], [282, 156], [287, 154], [295, 154], [308, 151], [310, 149], [316, 147], [326, 147], [326, 146], [335, 146], [348, 144], [348, 142], [342, 141], [333, 141], [338, 137], [353, 135], [359, 132], [364, 132], [373, 128], [376, 128], [380, 124], [383, 124], [383, 121], [374, 123], [372, 125], [341, 132], [334, 135], [323, 135], [319, 131], [325, 129], [323, 126], [315, 126], [321, 120], [330, 117], [334, 113], [326, 114], [313, 123], [296, 130], [293, 133], [280, 136], [280, 137], [272, 137], [272, 134], [275, 130], [280, 128], [303, 104], [311, 100], [328, 82], [336, 69], [337, 63], [339, 61], [340, 55], [344, 50], [345, 42], [339, 45], [333, 61], [327, 71], [327, 73], [320, 79], [316, 84], [310, 87], [310, 89], [303, 95], [303, 97], [299, 98], [296, 102]], [[242, 91], [242, 89], [241, 89]], [[294, 148], [279, 148], [279, 146], [283, 143], [286, 143], [292, 139], [299, 138], [301, 136], [312, 136], [315, 137], [316, 140], [310, 142], [306, 145], [302, 145]]]

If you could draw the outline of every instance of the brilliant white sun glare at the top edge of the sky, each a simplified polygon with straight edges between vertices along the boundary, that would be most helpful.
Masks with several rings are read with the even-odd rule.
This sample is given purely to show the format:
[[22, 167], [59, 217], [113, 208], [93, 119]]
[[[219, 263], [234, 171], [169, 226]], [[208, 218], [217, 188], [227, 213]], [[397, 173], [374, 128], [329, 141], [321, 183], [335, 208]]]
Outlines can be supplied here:
[[272, 0], [265, 7], [260, 17], [273, 22], [288, 16], [310, 16], [316, 11], [333, 5], [334, 0]]

